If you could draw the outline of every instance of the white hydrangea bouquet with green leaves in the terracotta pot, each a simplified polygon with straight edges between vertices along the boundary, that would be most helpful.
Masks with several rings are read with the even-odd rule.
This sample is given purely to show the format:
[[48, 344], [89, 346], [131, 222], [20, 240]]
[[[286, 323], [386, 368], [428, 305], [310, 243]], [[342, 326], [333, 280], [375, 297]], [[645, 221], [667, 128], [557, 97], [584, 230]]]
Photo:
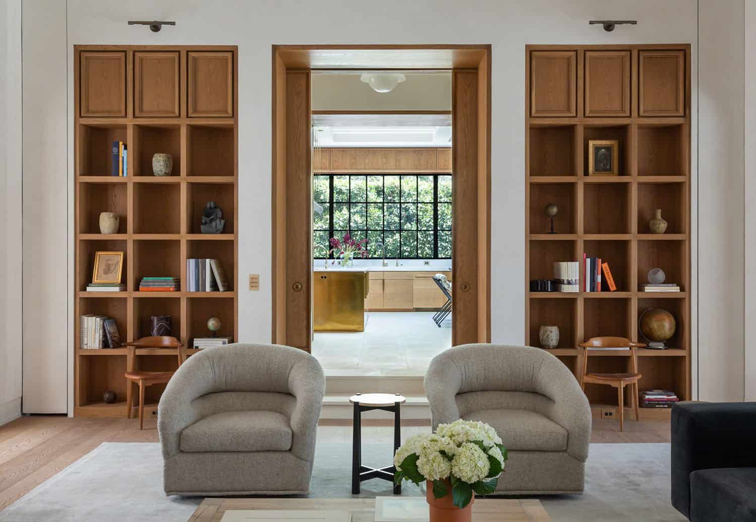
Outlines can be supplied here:
[[438, 425], [432, 435], [407, 440], [394, 456], [394, 480], [427, 480], [435, 499], [451, 493], [454, 505], [464, 509], [472, 493], [494, 493], [506, 461], [507, 449], [494, 428], [459, 420]]

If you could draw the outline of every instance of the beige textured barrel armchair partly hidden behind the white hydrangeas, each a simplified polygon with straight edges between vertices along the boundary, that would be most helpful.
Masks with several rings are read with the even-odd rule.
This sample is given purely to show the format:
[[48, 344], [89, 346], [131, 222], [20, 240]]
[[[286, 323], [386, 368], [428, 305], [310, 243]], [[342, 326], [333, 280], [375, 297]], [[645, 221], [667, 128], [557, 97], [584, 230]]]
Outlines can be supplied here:
[[425, 388], [434, 429], [466, 419], [500, 434], [509, 460], [498, 492], [582, 493], [590, 406], [556, 357], [528, 346], [464, 344], [431, 361]]

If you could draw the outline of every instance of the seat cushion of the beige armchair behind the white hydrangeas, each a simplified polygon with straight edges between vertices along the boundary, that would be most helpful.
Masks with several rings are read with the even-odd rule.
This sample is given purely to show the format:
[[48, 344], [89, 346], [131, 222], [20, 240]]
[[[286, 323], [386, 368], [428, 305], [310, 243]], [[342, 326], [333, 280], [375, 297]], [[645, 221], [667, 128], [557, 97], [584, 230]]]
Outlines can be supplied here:
[[540, 413], [526, 409], [481, 409], [463, 416], [496, 430], [510, 451], [565, 451], [567, 430]]

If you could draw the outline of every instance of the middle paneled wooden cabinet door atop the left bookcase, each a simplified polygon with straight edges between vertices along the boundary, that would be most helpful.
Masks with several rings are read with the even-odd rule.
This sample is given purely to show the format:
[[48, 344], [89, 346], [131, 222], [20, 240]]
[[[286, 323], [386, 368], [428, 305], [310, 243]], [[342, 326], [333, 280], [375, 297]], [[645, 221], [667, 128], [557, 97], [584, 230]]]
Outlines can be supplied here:
[[134, 53], [134, 116], [179, 116], [178, 52]]

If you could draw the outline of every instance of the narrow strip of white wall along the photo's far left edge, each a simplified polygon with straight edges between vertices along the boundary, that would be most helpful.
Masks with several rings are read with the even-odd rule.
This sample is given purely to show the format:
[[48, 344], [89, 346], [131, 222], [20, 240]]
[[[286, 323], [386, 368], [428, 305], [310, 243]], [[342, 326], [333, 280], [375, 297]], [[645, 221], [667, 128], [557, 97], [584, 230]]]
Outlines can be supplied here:
[[21, 413], [21, 0], [0, 5], [0, 425]]

